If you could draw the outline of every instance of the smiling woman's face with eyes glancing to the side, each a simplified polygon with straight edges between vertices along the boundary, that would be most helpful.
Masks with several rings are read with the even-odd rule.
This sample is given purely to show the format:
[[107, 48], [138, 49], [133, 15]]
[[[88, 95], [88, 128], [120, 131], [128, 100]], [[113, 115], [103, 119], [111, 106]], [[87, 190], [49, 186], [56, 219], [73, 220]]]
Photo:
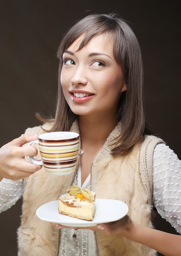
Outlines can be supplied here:
[[63, 54], [64, 97], [77, 115], [116, 115], [126, 84], [113, 55], [113, 36], [97, 35], [78, 50], [83, 37], [77, 38]]

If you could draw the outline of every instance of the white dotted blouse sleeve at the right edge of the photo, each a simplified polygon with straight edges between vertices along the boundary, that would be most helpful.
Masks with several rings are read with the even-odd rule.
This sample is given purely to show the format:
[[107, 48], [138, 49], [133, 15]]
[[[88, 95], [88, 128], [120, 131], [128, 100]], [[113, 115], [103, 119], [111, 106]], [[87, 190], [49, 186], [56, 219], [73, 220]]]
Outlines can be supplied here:
[[181, 234], [181, 160], [165, 144], [153, 153], [153, 204]]

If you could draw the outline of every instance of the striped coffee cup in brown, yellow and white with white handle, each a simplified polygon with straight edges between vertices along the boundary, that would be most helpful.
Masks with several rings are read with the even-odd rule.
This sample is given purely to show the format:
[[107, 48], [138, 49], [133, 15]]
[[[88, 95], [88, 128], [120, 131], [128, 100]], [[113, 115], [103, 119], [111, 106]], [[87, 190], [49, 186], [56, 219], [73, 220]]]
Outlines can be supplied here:
[[53, 175], [68, 175], [75, 171], [79, 157], [79, 134], [76, 132], [47, 132], [29, 145], [38, 144], [41, 160], [30, 156], [33, 164], [43, 165]]

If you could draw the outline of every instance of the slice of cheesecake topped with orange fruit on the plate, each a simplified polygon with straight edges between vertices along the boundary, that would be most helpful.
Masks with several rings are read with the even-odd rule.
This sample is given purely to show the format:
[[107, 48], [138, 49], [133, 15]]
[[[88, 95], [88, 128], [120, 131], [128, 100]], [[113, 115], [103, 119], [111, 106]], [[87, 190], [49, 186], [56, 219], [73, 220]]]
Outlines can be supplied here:
[[95, 193], [79, 186], [70, 186], [66, 192], [58, 198], [58, 211], [73, 218], [93, 220]]

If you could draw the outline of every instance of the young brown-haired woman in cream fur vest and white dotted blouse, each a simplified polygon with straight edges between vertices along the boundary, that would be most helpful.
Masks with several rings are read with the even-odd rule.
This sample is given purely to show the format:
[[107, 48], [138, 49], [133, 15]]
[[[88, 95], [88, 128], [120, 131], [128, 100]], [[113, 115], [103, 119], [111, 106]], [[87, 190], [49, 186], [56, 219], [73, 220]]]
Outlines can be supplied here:
[[[148, 230], [153, 198], [160, 215], [181, 233], [181, 161], [146, 124], [141, 51], [132, 29], [114, 13], [89, 15], [67, 31], [57, 56], [55, 119], [39, 117], [42, 126], [28, 128], [0, 149], [1, 211], [23, 193], [18, 255], [156, 255], [124, 234], [107, 236], [101, 227], [56, 228], [36, 216], [38, 207], [76, 184], [95, 191], [97, 198], [124, 201], [130, 218]], [[61, 130], [80, 134], [79, 166], [70, 175], [49, 175], [27, 157], [37, 150], [23, 145], [41, 133]]]

